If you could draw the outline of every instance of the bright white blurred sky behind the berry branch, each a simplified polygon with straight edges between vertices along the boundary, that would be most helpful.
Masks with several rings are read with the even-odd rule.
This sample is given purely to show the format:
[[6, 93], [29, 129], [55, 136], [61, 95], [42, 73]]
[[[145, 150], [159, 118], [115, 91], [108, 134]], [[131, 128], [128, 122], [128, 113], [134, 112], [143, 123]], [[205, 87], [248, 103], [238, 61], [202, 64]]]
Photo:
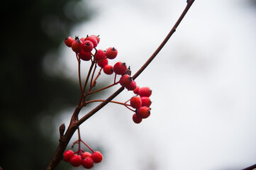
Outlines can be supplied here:
[[[178, 0], [88, 1], [91, 21], [72, 36], [101, 35], [133, 73], [165, 38], [186, 6]], [[82, 125], [89, 145], [102, 147], [95, 169], [242, 169], [256, 163], [256, 10], [245, 1], [197, 0], [177, 32], [136, 79], [153, 90], [150, 118], [109, 104]], [[77, 79], [73, 52], [62, 47], [65, 75]], [[102, 75], [102, 81], [111, 76]], [[113, 89], [114, 91], [114, 89]], [[111, 92], [111, 91], [110, 91]], [[133, 96], [123, 91], [116, 100]], [[104, 96], [103, 98], [106, 98]], [[58, 120], [58, 125], [68, 116]], [[84, 111], [83, 113], [86, 113]], [[74, 139], [75, 140], [75, 137]]]

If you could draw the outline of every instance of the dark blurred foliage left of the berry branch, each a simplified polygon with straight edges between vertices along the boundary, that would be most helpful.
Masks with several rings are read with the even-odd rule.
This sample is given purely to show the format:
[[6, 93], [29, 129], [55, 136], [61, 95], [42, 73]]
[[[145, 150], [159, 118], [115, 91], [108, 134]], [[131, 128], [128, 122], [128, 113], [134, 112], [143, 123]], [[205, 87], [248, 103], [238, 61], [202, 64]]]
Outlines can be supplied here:
[[[70, 29], [89, 18], [89, 11], [79, 0], [3, 1], [0, 8], [0, 166], [46, 169], [57, 147], [57, 139], [52, 143], [51, 138], [52, 118], [77, 104], [79, 86], [45, 74], [43, 58], [49, 51], [57, 53]], [[67, 169], [63, 165], [57, 169]]]

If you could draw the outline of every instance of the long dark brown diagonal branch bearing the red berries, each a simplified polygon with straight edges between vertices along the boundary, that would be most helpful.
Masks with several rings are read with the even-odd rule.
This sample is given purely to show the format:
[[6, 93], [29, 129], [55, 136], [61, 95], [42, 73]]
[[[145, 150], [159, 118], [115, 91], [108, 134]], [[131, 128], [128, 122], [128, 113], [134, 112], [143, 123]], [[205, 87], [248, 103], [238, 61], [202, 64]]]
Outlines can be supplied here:
[[[152, 60], [157, 56], [158, 52], [160, 52], [160, 50], [162, 50], [162, 47], [165, 46], [166, 42], [169, 40], [169, 38], [172, 36], [172, 34], [176, 31], [177, 27], [179, 26], [179, 23], [182, 21], [182, 19], [184, 18], [184, 16], [186, 15], [187, 11], [189, 11], [189, 8], [191, 7], [191, 5], [194, 3], [194, 0], [188, 0], [187, 1], [187, 6], [184, 9], [184, 11], [182, 12], [182, 15], [179, 17], [178, 21], [175, 23], [174, 27], [172, 28], [172, 30], [170, 30], [169, 34], [167, 35], [167, 37], [165, 38], [165, 40], [163, 40], [163, 42], [161, 43], [161, 45], [159, 47], [157, 47], [157, 50], [155, 50], [155, 52], [151, 55], [151, 57], [148, 59], [147, 62], [145, 62], [145, 64], [143, 64], [143, 66], [138, 70], [138, 72], [136, 72], [133, 75], [133, 79], [136, 79], [142, 72], [143, 70], [148, 67], [148, 64], [150, 64], [150, 62], [152, 62]], [[92, 67], [90, 68], [91, 71]], [[82, 96], [84, 96], [84, 90], [85, 90], [85, 86], [87, 84], [88, 81], [88, 77], [87, 80], [84, 84], [84, 88], [82, 91]], [[77, 121], [77, 115], [79, 114], [79, 112], [82, 109], [81, 103], [82, 103], [82, 96], [79, 100], [79, 105], [77, 106], [77, 108], [75, 109], [72, 118], [70, 120], [69, 123], [69, 127], [67, 128], [67, 131], [65, 133], [64, 136], [60, 137], [60, 142], [59, 145], [57, 147], [57, 150], [55, 152], [55, 155], [53, 156], [50, 164], [47, 167], [47, 170], [52, 170], [55, 169], [55, 167], [57, 166], [57, 164], [60, 163], [60, 161], [62, 160], [62, 155], [65, 152], [65, 149], [69, 143], [69, 140], [71, 139], [72, 135], [74, 134], [74, 132], [77, 130], [77, 128], [79, 127], [79, 125], [81, 125], [82, 123], [84, 123], [85, 120], [87, 120], [88, 118], [90, 118], [92, 115], [94, 115], [97, 111], [99, 111], [101, 108], [103, 108], [104, 106], [106, 106], [107, 103], [109, 103], [110, 101], [113, 100], [113, 98], [115, 98], [116, 96], [118, 96], [118, 94], [120, 94], [123, 91], [123, 87], [119, 88], [116, 92], [114, 92], [111, 96], [109, 96], [108, 98], [106, 98], [106, 100], [102, 103], [99, 104], [99, 106], [96, 106], [96, 108], [94, 108], [93, 110], [91, 110], [89, 113], [87, 113], [87, 115], [84, 115], [84, 117], [82, 117], [80, 120]]]

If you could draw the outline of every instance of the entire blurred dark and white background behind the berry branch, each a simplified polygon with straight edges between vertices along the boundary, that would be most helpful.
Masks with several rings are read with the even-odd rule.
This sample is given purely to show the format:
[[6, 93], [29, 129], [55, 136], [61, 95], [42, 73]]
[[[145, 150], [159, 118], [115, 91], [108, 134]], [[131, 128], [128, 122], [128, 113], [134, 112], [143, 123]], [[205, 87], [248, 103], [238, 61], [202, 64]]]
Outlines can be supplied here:
[[[186, 1], [5, 1], [1, 5], [0, 166], [45, 169], [79, 100], [77, 61], [64, 38], [100, 35], [132, 74], [152, 55]], [[256, 1], [197, 0], [145, 72], [150, 118], [112, 103], [81, 126], [104, 154], [94, 169], [243, 169], [256, 163]], [[83, 76], [88, 65], [84, 63]], [[113, 77], [102, 74], [99, 86]], [[113, 91], [94, 96], [104, 99]], [[123, 91], [116, 101], [133, 93]], [[94, 108], [90, 105], [81, 116]], [[74, 135], [72, 142], [77, 140]], [[61, 162], [57, 169], [74, 169]], [[75, 168], [82, 169], [82, 167]]]

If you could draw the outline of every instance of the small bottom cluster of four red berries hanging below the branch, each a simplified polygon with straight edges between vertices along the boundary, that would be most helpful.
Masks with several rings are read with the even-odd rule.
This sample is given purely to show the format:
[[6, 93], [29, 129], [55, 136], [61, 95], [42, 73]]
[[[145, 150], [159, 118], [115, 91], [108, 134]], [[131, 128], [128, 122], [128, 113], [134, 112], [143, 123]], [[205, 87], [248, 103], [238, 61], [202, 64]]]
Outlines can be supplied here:
[[67, 150], [64, 152], [63, 157], [65, 162], [70, 162], [72, 166], [84, 166], [85, 169], [91, 169], [94, 163], [99, 163], [103, 159], [101, 152], [95, 151], [92, 154], [90, 152], [73, 152]]

